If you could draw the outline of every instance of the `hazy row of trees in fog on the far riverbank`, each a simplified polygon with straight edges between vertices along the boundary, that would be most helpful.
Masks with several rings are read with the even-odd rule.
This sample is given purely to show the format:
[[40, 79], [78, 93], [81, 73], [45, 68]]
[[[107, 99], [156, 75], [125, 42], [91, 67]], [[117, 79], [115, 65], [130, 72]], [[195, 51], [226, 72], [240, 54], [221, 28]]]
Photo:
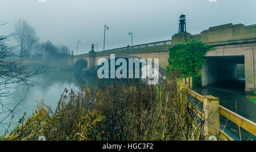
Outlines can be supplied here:
[[18, 43], [18, 53], [22, 60], [60, 59], [71, 54], [66, 45], [54, 45], [51, 41], [40, 42], [35, 28], [26, 20], [19, 20], [15, 24], [15, 40]]

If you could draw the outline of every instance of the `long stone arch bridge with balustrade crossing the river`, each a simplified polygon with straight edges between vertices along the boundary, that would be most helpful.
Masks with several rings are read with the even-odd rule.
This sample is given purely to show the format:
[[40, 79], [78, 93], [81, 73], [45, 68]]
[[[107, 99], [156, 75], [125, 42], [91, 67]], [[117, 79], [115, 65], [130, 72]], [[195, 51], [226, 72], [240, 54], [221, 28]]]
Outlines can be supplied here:
[[[243, 24], [225, 24], [191, 35], [188, 32], [176, 33], [172, 40], [159, 41], [155, 43], [134, 45], [105, 50], [101, 52], [90, 51], [87, 54], [71, 56], [68, 66], [75, 69], [86, 69], [97, 66], [100, 58], [109, 58], [110, 54], [122, 58], [159, 58], [159, 69], [166, 74], [168, 66], [169, 50], [177, 43], [189, 40], [200, 40], [208, 45], [214, 45], [205, 58], [207, 65], [201, 69], [203, 86], [236, 79], [237, 67], [243, 71], [245, 78], [245, 91], [255, 90], [255, 58], [256, 58], [256, 24], [245, 26]], [[242, 73], [239, 70], [239, 73]], [[256, 91], [255, 91], [256, 92]]]

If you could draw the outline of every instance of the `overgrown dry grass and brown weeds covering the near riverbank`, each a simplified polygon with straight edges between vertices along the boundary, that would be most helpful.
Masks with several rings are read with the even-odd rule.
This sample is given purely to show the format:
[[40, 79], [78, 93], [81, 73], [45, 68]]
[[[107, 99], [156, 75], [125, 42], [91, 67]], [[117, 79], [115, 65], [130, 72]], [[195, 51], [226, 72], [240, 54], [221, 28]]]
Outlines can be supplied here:
[[181, 105], [176, 77], [157, 86], [112, 82], [65, 90], [55, 112], [43, 103], [1, 140], [204, 140], [203, 122], [193, 126], [193, 107]]

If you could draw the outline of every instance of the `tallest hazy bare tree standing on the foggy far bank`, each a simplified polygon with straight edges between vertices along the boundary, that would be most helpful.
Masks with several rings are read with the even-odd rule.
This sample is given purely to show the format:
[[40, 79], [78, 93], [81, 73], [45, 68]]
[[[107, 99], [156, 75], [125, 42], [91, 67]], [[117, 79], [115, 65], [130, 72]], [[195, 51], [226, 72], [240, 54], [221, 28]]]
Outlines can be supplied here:
[[15, 39], [19, 44], [19, 52], [21, 57], [29, 57], [32, 47], [39, 40], [36, 31], [26, 20], [19, 20], [15, 24]]

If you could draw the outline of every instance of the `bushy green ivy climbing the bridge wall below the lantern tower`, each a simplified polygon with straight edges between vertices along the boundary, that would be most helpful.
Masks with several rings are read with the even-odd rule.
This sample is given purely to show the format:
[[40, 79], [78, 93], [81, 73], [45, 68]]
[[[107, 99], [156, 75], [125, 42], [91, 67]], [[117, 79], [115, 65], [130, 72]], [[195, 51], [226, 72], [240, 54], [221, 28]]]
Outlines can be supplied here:
[[170, 48], [168, 73], [180, 71], [180, 77], [193, 77], [193, 86], [201, 86], [200, 70], [206, 64], [204, 56], [210, 49], [211, 45], [205, 45], [198, 40], [175, 44]]

